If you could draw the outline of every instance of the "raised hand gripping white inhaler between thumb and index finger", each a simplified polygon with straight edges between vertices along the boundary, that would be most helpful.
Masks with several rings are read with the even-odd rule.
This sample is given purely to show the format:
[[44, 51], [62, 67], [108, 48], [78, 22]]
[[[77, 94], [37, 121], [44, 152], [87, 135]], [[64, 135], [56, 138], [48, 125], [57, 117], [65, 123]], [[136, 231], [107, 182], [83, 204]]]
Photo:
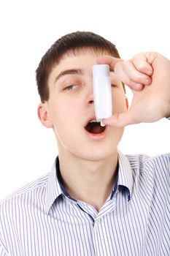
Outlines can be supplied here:
[[169, 59], [159, 53], [139, 53], [128, 61], [103, 56], [97, 62], [114, 68], [118, 78], [134, 94], [129, 110], [104, 119], [104, 124], [123, 127], [170, 116]]

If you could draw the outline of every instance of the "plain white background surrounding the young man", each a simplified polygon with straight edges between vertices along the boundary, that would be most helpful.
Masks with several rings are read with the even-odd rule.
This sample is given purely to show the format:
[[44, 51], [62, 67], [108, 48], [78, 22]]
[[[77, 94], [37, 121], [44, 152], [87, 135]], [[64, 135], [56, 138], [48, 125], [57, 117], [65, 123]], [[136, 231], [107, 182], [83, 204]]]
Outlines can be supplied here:
[[[170, 59], [169, 26], [169, 0], [1, 1], [0, 199], [49, 172], [58, 153], [53, 132], [36, 117], [35, 69], [50, 45], [72, 31], [94, 31], [123, 59], [150, 50]], [[119, 148], [166, 153], [169, 129], [166, 119], [127, 127]]]

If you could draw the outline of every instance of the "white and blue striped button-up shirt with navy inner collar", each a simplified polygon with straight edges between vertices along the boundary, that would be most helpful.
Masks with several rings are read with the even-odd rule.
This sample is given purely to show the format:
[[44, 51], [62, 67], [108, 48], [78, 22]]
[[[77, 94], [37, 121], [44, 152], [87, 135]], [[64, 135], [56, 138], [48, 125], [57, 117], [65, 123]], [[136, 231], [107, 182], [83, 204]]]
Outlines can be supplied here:
[[0, 204], [0, 256], [170, 255], [170, 154], [124, 156], [100, 211], [50, 173]]

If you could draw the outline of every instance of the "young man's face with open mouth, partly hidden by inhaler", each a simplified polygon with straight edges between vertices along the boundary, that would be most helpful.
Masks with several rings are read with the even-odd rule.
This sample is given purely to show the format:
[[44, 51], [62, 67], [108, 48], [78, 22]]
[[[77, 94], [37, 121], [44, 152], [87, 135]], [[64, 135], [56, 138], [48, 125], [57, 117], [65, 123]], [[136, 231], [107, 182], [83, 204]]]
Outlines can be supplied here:
[[[107, 159], [117, 151], [123, 128], [89, 124], [96, 119], [93, 103], [92, 67], [101, 53], [85, 50], [69, 53], [50, 73], [50, 97], [39, 105], [39, 118], [53, 127], [58, 152], [91, 161]], [[110, 72], [113, 113], [126, 110], [125, 93], [120, 80]]]

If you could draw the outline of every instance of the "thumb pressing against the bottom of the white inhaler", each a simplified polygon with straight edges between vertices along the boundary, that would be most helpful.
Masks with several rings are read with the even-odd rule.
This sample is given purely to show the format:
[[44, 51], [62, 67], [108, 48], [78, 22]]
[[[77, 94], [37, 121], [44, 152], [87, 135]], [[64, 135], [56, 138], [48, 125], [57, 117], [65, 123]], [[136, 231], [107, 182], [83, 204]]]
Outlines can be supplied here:
[[131, 114], [129, 111], [125, 113], [116, 114], [114, 116], [102, 120], [102, 123], [113, 127], [125, 127], [126, 125], [138, 124], [139, 122], [140, 121], [131, 118]]

